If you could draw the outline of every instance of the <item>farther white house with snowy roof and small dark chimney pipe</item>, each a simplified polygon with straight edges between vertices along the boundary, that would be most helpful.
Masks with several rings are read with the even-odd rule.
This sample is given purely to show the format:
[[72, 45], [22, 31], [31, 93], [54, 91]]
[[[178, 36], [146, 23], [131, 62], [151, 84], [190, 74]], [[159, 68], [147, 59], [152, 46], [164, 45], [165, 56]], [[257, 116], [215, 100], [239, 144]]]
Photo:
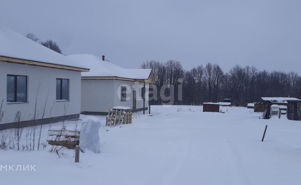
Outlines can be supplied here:
[[154, 79], [151, 69], [124, 69], [105, 61], [104, 56], [67, 57], [90, 68], [90, 72], [82, 73], [82, 114], [107, 115], [116, 106], [129, 107], [132, 112], [148, 109], [148, 88]]

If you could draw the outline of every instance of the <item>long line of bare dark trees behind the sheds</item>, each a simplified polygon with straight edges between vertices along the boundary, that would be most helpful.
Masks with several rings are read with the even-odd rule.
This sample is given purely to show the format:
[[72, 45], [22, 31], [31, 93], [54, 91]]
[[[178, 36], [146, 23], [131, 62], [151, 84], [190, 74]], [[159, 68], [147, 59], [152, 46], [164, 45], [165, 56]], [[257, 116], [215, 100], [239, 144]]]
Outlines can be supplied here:
[[[185, 71], [180, 61], [146, 61], [140, 68], [153, 69], [158, 95], [150, 104], [162, 104], [159, 93], [162, 86], [175, 88], [174, 104], [200, 105], [203, 102], [220, 102], [232, 99], [236, 106], [258, 102], [261, 97], [301, 98], [301, 77], [296, 72], [259, 71], [255, 66], [236, 64], [224, 72], [218, 64], [207, 63]], [[182, 100], [177, 98], [177, 87], [182, 85]]]

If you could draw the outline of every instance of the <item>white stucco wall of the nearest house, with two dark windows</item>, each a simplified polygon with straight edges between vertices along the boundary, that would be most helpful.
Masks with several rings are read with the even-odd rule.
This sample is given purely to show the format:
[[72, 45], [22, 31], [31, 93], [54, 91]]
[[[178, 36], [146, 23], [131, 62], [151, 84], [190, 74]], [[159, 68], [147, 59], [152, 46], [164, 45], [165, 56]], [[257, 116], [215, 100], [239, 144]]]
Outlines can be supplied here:
[[[6, 101], [8, 74], [27, 76], [28, 103], [9, 103]], [[56, 78], [69, 79], [69, 101], [56, 100]], [[48, 91], [49, 96], [44, 118], [63, 116], [65, 104], [66, 106], [68, 105], [66, 115], [80, 114], [81, 72], [0, 61], [0, 101], [3, 99], [4, 110], [4, 116], [1, 124], [14, 122], [13, 119], [17, 111], [21, 112], [20, 121], [27, 121], [33, 118], [36, 103], [35, 98], [39, 84], [40, 89], [37, 96], [36, 119], [42, 118], [43, 107], [45, 105]]]

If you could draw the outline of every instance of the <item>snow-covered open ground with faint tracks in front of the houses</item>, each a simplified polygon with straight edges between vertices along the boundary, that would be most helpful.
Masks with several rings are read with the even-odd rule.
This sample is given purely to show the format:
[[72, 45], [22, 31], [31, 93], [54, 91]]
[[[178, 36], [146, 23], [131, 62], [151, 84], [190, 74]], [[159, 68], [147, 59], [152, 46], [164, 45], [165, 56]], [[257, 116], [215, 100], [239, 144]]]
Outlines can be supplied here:
[[[79, 163], [68, 149], [61, 158], [50, 153], [49, 146], [43, 151], [1, 150], [0, 164], [33, 164], [36, 171], [1, 171], [0, 182], [300, 184], [300, 121], [264, 120], [253, 109], [220, 108], [224, 114], [202, 112], [202, 106], [151, 106], [153, 116], [134, 113], [132, 124], [102, 126], [101, 153], [80, 153]], [[105, 117], [98, 118], [105, 125]], [[65, 124], [73, 129], [75, 122]], [[43, 127], [43, 141], [48, 127]]]

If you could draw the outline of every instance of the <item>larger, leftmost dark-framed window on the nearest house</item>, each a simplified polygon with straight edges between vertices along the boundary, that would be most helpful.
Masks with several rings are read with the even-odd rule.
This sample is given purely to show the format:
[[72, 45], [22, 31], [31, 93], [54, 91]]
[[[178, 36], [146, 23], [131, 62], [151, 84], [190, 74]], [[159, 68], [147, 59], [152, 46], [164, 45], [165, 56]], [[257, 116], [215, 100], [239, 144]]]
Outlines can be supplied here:
[[27, 101], [27, 76], [7, 75], [6, 101]]

